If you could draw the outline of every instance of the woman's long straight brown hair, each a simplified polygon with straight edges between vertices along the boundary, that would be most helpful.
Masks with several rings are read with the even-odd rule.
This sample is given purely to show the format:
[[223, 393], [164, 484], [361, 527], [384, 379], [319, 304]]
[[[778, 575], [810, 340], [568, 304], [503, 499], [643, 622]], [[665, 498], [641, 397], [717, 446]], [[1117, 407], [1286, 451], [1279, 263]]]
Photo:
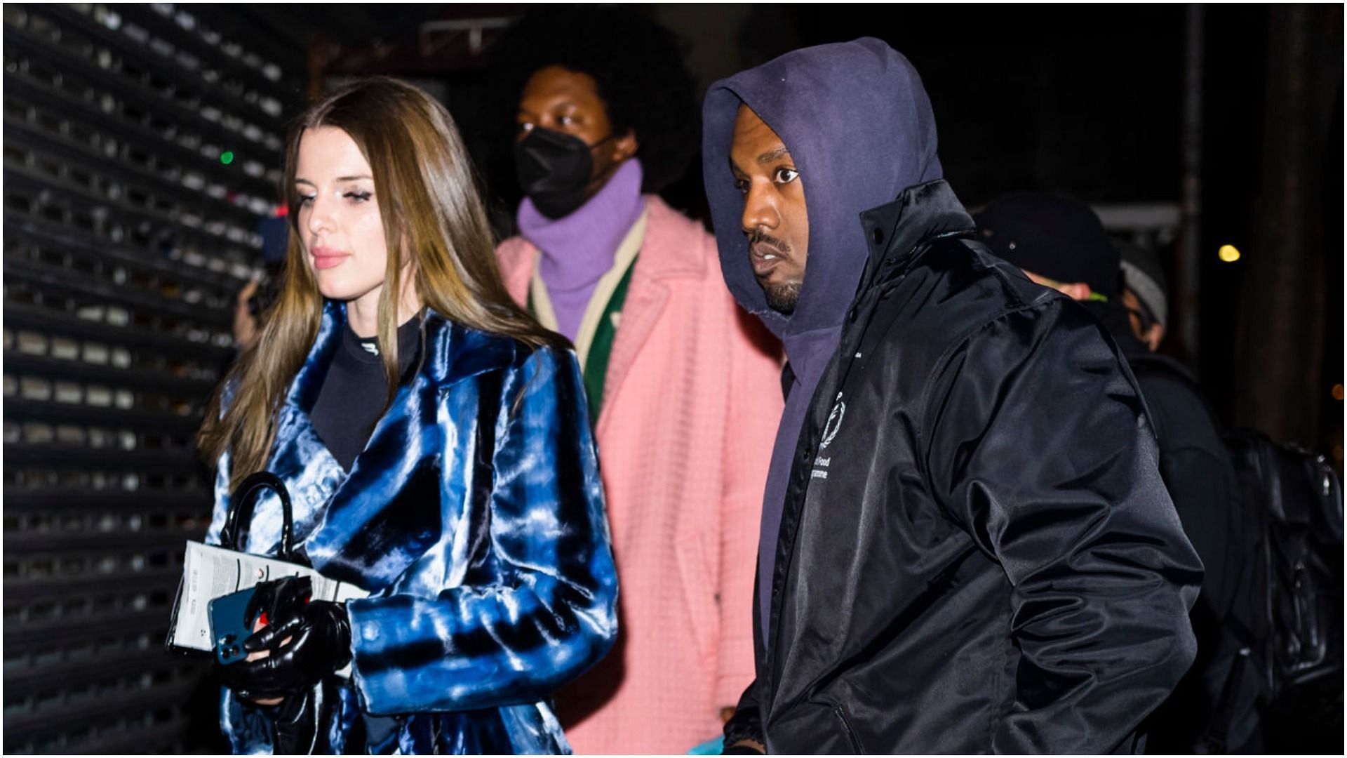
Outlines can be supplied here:
[[[388, 398], [397, 387], [397, 303], [404, 263], [422, 308], [457, 324], [527, 345], [564, 345], [515, 305], [501, 283], [477, 177], [454, 120], [434, 98], [388, 77], [348, 84], [311, 105], [286, 147], [286, 197], [298, 208], [295, 166], [307, 129], [335, 127], [360, 148], [373, 173], [388, 264], [379, 297], [379, 353]], [[299, 214], [291, 213], [286, 278], [257, 344], [217, 388], [197, 445], [207, 460], [230, 453], [230, 488], [267, 464], [276, 417], [322, 321], [323, 297], [304, 260]], [[226, 406], [226, 395], [228, 406]], [[225, 407], [226, 406], [226, 407]]]

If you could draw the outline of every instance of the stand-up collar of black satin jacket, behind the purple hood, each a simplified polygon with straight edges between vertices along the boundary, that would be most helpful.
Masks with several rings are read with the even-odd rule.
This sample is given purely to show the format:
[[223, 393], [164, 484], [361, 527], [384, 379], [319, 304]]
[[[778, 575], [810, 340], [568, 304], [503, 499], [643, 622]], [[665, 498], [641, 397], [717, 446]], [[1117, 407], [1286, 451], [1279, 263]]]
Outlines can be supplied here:
[[880, 271], [888, 274], [905, 267], [924, 243], [977, 231], [973, 217], [944, 179], [911, 186], [893, 202], [862, 212], [861, 228], [869, 252], [862, 278], [866, 286], [877, 281]]

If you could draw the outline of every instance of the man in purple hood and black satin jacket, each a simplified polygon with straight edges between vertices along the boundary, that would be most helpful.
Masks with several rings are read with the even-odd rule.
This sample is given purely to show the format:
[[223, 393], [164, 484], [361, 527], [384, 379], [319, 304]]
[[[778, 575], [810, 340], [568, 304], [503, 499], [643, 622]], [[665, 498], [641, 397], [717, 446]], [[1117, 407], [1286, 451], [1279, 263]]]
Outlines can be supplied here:
[[726, 283], [789, 357], [727, 751], [1140, 747], [1202, 564], [1103, 328], [974, 240], [877, 39], [714, 84], [703, 134]]

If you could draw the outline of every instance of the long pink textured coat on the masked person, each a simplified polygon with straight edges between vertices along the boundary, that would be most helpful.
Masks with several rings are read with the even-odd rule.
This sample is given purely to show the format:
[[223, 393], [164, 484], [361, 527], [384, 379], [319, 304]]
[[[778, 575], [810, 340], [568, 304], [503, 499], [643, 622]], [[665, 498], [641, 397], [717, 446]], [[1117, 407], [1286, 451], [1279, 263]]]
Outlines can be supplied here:
[[[753, 680], [753, 573], [781, 418], [780, 347], [721, 276], [715, 239], [647, 196], [645, 241], [595, 428], [618, 642], [556, 696], [577, 753], [686, 753]], [[496, 251], [528, 297], [536, 250]]]

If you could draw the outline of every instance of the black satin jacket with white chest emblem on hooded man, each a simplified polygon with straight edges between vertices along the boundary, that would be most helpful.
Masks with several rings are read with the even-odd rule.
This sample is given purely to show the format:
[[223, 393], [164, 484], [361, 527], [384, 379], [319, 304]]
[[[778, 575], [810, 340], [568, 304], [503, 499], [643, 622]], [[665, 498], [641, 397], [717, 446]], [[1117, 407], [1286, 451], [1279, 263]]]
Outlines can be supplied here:
[[943, 181], [872, 240], [796, 449], [726, 745], [1109, 753], [1192, 662], [1202, 564], [1136, 380]]

